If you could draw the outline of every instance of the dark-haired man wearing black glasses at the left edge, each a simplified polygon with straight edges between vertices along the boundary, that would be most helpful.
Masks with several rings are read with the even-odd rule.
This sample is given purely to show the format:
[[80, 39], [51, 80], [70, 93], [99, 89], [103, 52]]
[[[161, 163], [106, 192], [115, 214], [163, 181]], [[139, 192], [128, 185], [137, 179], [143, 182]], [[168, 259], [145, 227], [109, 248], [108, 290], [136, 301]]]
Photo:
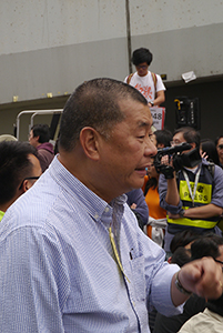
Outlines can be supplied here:
[[37, 157], [37, 150], [27, 142], [0, 142], [0, 220], [40, 178], [42, 171]]

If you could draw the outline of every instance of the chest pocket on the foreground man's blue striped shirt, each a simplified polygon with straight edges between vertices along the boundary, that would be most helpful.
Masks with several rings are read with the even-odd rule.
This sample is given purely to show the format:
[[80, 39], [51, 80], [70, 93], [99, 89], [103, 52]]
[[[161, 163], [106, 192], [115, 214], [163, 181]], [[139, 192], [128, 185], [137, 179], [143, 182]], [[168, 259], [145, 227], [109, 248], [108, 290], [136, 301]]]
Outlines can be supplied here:
[[138, 301], [145, 300], [144, 256], [132, 259], [131, 262], [133, 287]]

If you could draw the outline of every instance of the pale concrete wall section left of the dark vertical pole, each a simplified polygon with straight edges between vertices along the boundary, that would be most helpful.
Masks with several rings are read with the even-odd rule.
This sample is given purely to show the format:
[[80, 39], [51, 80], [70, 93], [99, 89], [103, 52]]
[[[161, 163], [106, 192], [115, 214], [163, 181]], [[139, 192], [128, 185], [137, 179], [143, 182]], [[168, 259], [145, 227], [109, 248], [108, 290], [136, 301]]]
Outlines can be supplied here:
[[126, 60], [124, 1], [12, 0], [0, 14], [0, 103], [70, 93]]

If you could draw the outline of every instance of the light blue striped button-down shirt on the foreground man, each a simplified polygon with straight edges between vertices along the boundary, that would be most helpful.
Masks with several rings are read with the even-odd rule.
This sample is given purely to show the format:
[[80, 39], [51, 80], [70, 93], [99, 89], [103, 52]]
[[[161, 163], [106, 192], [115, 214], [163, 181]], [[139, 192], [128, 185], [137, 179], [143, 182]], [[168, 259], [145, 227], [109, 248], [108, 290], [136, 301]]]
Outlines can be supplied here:
[[179, 268], [164, 262], [125, 200], [108, 204], [54, 158], [0, 224], [0, 332], [144, 333], [151, 306], [180, 313], [170, 292]]

